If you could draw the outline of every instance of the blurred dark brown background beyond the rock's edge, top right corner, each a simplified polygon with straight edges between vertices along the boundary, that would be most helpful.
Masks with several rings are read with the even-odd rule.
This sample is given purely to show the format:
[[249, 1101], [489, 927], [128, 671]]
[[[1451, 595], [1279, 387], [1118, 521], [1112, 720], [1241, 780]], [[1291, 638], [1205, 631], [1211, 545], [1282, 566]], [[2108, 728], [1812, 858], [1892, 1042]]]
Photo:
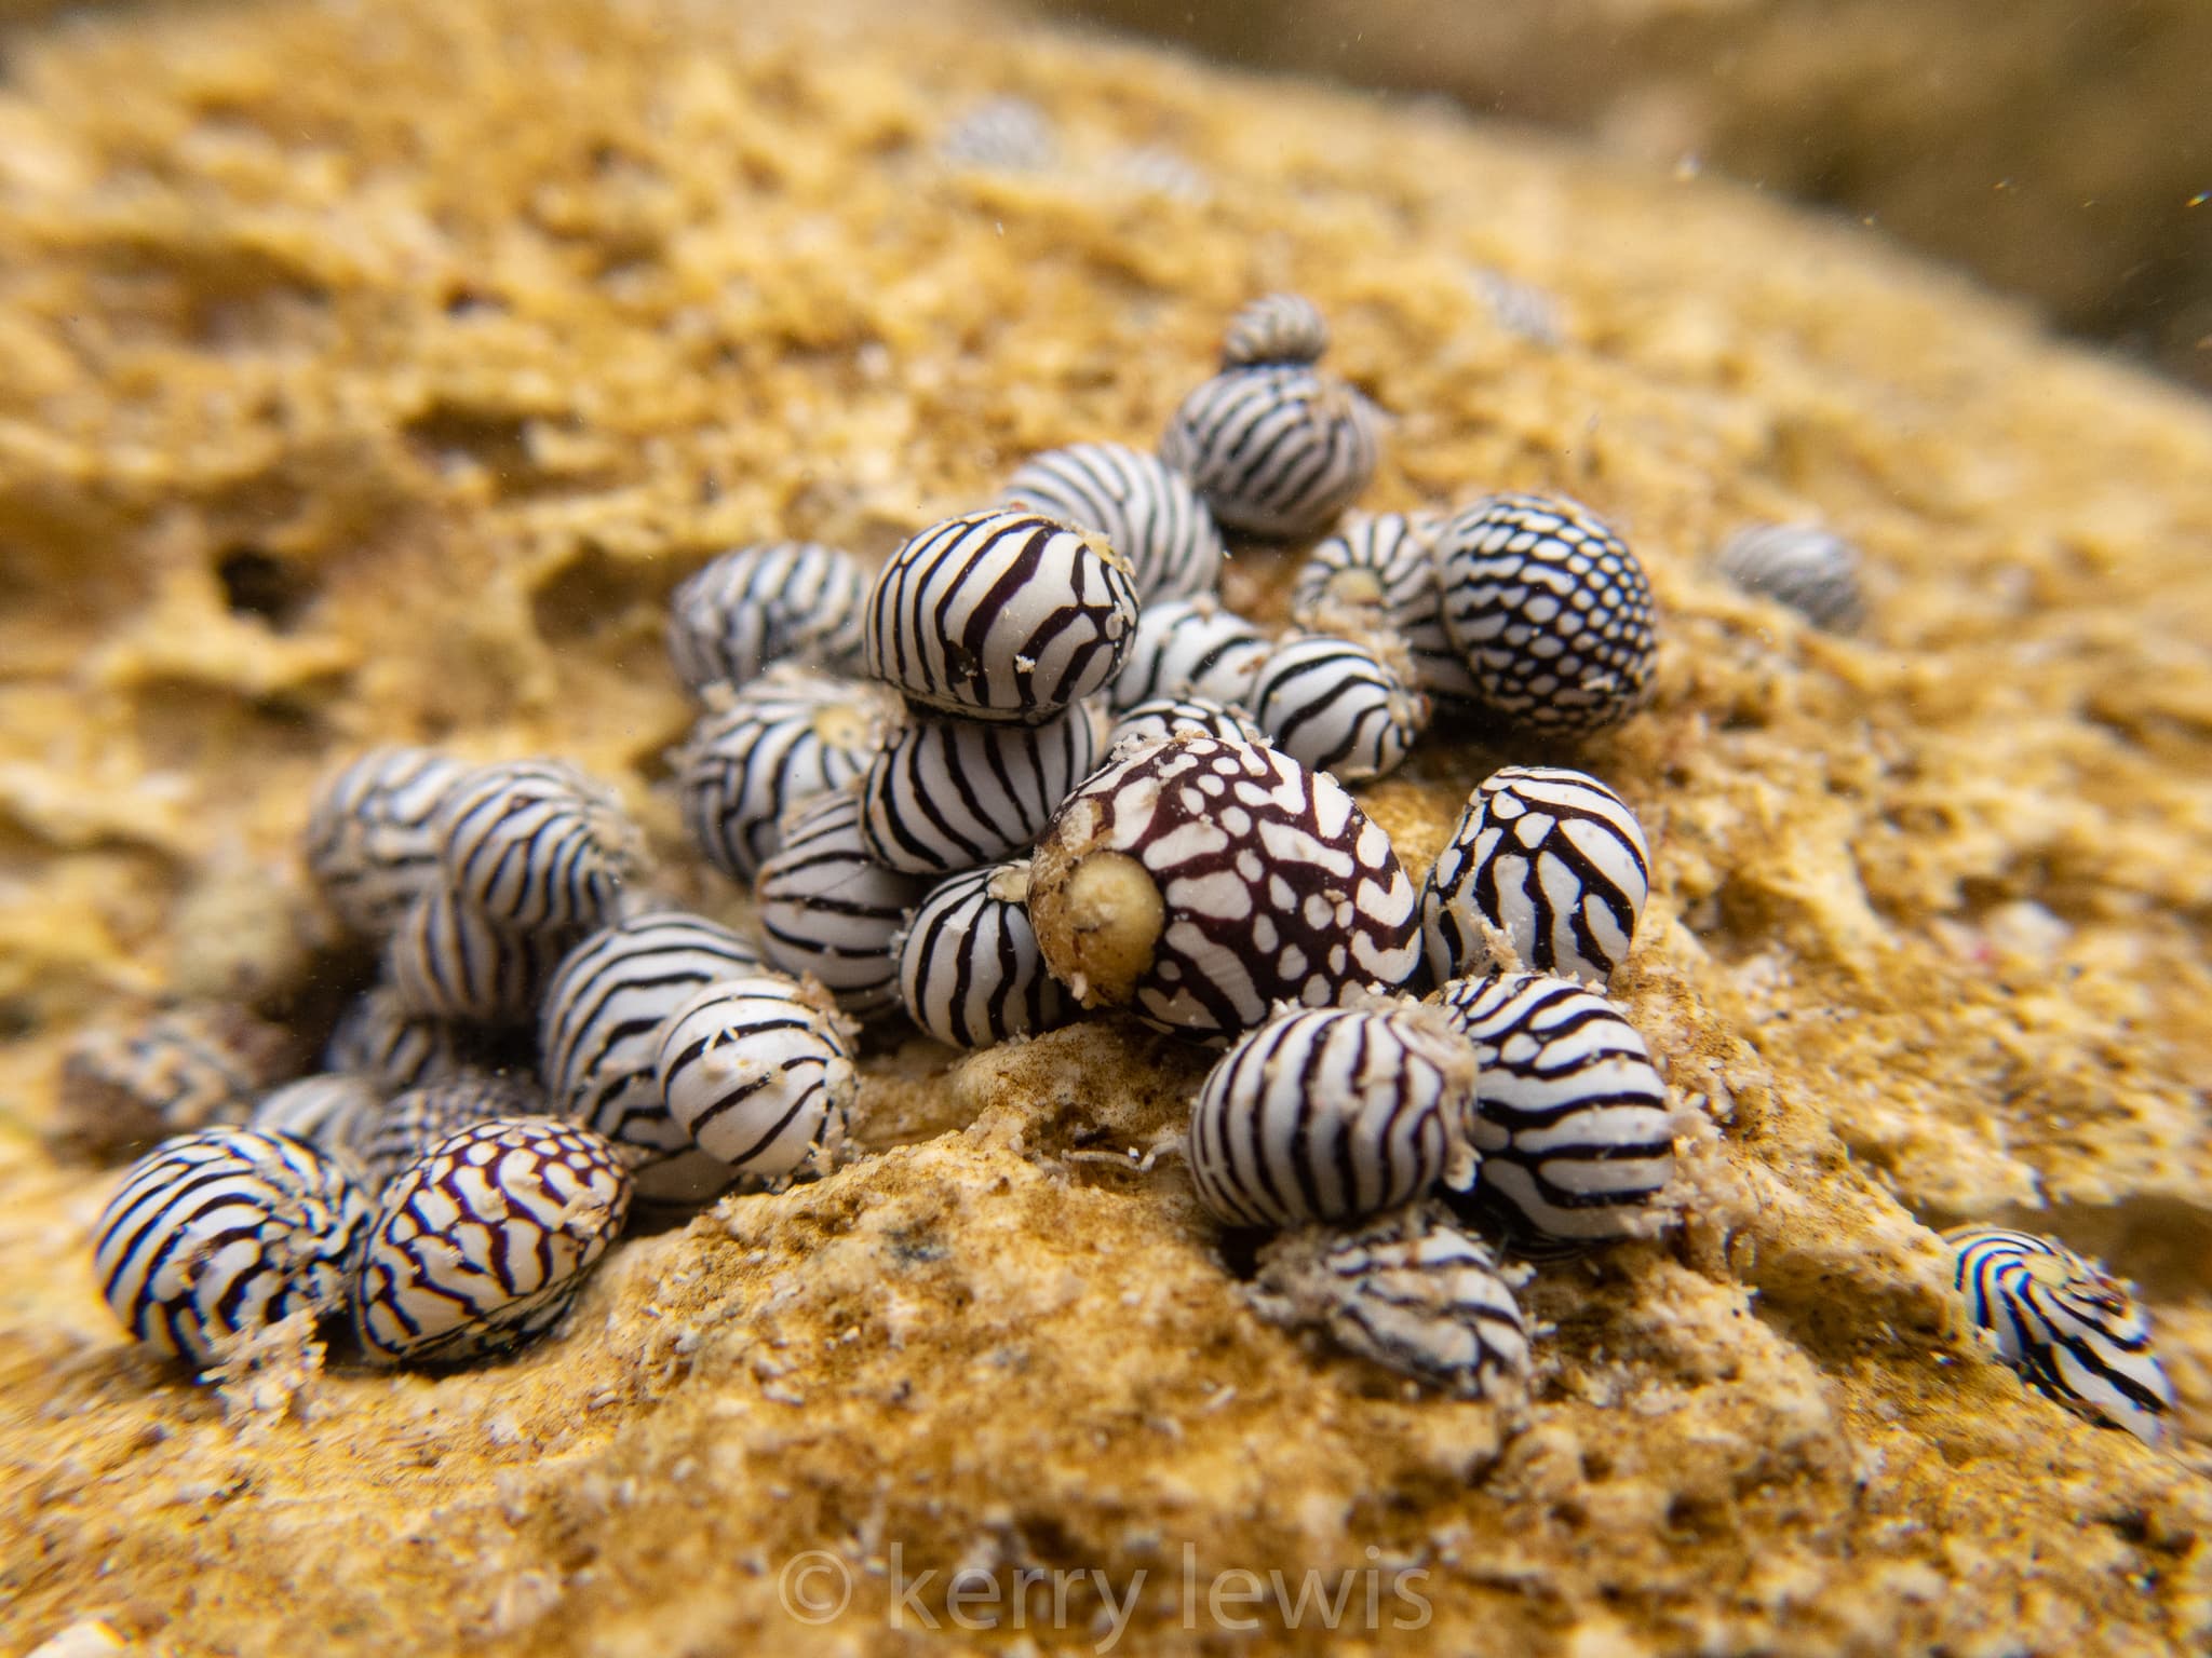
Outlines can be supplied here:
[[2212, 391], [2212, 0], [1029, 0], [1863, 219]]

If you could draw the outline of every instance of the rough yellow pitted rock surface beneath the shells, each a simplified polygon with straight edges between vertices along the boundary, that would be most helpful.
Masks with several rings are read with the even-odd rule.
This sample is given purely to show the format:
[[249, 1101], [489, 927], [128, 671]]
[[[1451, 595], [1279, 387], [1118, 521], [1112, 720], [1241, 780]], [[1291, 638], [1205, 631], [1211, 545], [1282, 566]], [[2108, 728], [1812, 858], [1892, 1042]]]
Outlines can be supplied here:
[[[13, 62], [0, 1649], [2212, 1638], [2205, 407], [1741, 192], [984, 11], [807, 13], [285, 0]], [[1062, 161], [947, 170], [1004, 91]], [[1210, 199], [1115, 161], [1146, 144]], [[1480, 267], [1562, 338], [1500, 332]], [[358, 964], [294, 842], [334, 756], [568, 754], [728, 909], [655, 794], [675, 581], [1150, 442], [1279, 285], [1394, 413], [1367, 504], [1564, 489], [1666, 608], [1655, 707], [1584, 763], [1657, 847], [1617, 990], [1694, 1123], [1686, 1225], [1540, 1276], [1526, 1417], [1263, 1326], [1175, 1158], [1133, 1156], [1203, 1059], [1110, 1021], [872, 1061], [874, 1156], [633, 1236], [507, 1366], [272, 1340], [195, 1388], [119, 1340], [113, 1174], [38, 1145], [62, 1043], [166, 986], [327, 1017]], [[1807, 515], [1869, 555], [1865, 639], [1708, 573]], [[1285, 575], [1245, 555], [1232, 597], [1279, 615]], [[1498, 758], [1369, 791], [1411, 864]], [[1929, 1231], [1962, 1216], [2143, 1284], [2174, 1452], [1978, 1353]], [[1336, 1634], [1274, 1603], [1310, 1567]]]

